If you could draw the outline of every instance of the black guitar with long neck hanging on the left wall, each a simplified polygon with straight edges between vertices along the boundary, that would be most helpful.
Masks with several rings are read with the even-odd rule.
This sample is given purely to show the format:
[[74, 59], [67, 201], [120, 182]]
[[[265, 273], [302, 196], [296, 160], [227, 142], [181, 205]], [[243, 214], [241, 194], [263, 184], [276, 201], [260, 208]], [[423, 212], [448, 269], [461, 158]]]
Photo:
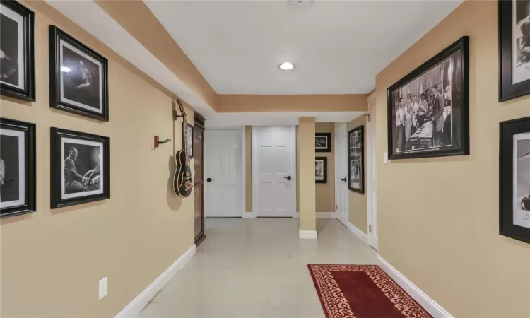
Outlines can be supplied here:
[[[184, 112], [184, 106], [182, 102], [177, 98], [177, 104], [179, 105], [180, 114], [182, 114], [182, 134], [184, 141], [187, 140], [186, 136], [186, 113]], [[173, 190], [175, 193], [182, 197], [187, 198], [192, 194], [193, 180], [192, 170], [189, 169], [189, 158], [186, 153], [186, 145], [182, 145], [182, 150], [175, 153], [175, 163], [177, 164], [177, 170], [175, 170], [175, 177], [173, 177]]]

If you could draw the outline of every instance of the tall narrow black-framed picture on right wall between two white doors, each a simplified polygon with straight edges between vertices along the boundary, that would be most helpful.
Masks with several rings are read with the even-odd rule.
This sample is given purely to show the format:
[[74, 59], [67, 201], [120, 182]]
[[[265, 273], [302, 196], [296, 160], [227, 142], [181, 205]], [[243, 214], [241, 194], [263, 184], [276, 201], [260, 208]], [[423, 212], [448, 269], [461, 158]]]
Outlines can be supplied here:
[[[359, 145], [352, 144], [352, 137], [359, 138]], [[359, 153], [357, 153], [357, 151]], [[355, 157], [360, 155], [359, 159]], [[354, 165], [355, 160], [360, 160], [360, 165]], [[359, 168], [359, 179], [360, 187], [352, 187], [352, 182], [355, 182], [355, 179], [352, 176], [352, 168]], [[354, 129], [348, 131], [348, 189], [353, 192], [358, 192], [360, 194], [365, 193], [365, 126], [358, 126]]]

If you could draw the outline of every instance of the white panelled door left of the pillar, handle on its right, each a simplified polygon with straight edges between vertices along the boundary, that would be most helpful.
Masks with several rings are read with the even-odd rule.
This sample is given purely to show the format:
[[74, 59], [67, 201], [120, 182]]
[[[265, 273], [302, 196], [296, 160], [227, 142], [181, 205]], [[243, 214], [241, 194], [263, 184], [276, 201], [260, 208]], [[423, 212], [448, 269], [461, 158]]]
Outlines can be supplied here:
[[252, 211], [260, 217], [296, 216], [294, 126], [252, 127]]

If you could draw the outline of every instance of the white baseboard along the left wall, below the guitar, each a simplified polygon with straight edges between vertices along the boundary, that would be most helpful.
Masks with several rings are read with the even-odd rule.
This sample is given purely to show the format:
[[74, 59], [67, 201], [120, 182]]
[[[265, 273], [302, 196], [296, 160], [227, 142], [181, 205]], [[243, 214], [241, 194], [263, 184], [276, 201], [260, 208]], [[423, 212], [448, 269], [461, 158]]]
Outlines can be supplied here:
[[167, 269], [158, 276], [153, 283], [147, 286], [140, 295], [136, 296], [134, 300], [129, 302], [129, 305], [119, 312], [115, 318], [122, 317], [136, 317], [144, 307], [155, 297], [156, 294], [162, 288], [170, 282], [171, 278], [175, 276], [179, 271], [181, 271], [186, 264], [194, 257], [196, 252], [196, 246], [192, 245], [184, 254], [182, 254], [173, 264], [171, 264]]

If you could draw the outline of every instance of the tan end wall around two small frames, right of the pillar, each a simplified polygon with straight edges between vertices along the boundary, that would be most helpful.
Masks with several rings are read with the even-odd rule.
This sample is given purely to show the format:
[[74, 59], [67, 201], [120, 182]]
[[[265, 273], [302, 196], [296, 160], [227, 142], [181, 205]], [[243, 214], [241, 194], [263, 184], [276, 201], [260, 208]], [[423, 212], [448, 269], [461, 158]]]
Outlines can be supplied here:
[[314, 127], [315, 132], [331, 133], [331, 153], [314, 154], [315, 157], [328, 158], [328, 182], [314, 185], [317, 212], [335, 212], [335, 123], [317, 122]]

